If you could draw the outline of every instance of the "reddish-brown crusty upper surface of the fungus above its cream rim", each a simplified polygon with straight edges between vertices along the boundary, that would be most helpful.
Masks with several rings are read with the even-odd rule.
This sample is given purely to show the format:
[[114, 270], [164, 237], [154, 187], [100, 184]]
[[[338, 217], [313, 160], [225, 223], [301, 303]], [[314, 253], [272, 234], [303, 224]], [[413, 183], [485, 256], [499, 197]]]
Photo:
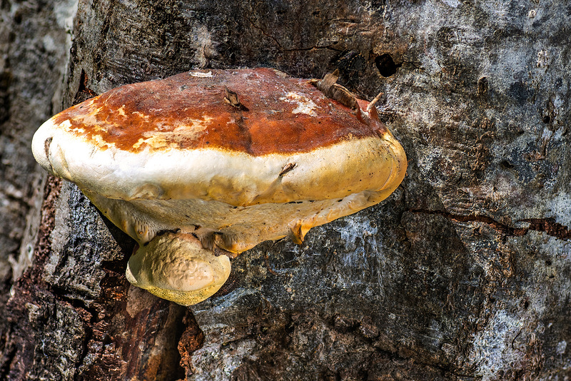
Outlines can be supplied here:
[[[241, 107], [225, 101], [226, 88], [238, 94]], [[51, 121], [98, 149], [131, 153], [218, 148], [263, 156], [386, 133], [380, 123], [359, 123], [307, 80], [269, 68], [181, 73], [121, 86]]]

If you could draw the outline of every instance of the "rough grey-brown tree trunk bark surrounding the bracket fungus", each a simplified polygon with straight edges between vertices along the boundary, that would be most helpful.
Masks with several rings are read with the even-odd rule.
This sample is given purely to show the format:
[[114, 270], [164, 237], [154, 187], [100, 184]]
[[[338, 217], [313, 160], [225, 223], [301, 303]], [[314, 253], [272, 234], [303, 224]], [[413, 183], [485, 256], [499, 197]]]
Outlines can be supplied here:
[[[192, 308], [129, 287], [133, 242], [49, 178], [34, 265], [0, 322], [0, 378], [571, 375], [571, 4], [346, 3], [80, 2], [56, 108], [190, 68], [270, 66], [305, 78], [339, 68], [360, 96], [385, 93], [381, 118], [407, 151], [408, 175], [384, 203], [311, 230], [303, 245], [243, 253], [223, 292]], [[8, 46], [34, 44], [32, 26], [6, 11], [17, 6], [1, 4], [21, 41]], [[18, 68], [41, 77], [35, 54]], [[1, 78], [4, 105], [36, 91]], [[26, 144], [30, 128], [18, 138]], [[19, 141], [4, 131], [3, 155]], [[31, 178], [18, 181], [29, 200]], [[16, 233], [28, 208], [14, 206]], [[16, 253], [17, 234], [3, 252]]]

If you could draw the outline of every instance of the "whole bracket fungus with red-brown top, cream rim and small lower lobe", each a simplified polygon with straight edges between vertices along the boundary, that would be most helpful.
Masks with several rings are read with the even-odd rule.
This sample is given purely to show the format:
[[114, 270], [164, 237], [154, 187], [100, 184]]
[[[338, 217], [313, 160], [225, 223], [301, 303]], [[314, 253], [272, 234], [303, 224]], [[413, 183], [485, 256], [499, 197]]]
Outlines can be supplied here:
[[402, 146], [336, 80], [255, 68], [134, 83], [52, 117], [32, 150], [136, 240], [133, 285], [193, 305], [221, 288], [229, 256], [301, 243], [403, 180]]

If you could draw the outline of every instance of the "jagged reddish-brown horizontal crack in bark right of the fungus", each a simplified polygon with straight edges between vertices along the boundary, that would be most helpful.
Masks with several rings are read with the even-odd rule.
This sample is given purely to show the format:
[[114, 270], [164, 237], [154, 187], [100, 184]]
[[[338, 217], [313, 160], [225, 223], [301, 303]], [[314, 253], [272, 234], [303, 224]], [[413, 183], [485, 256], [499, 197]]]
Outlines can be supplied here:
[[519, 220], [521, 222], [530, 223], [529, 228], [514, 228], [510, 225], [500, 223], [491, 217], [486, 215], [459, 215], [448, 212], [443, 212], [442, 210], [424, 210], [424, 209], [411, 209], [411, 213], [425, 213], [425, 214], [437, 214], [442, 215], [449, 220], [455, 220], [458, 222], [480, 222], [490, 225], [492, 228], [498, 232], [505, 235], [512, 235], [514, 237], [521, 237], [526, 235], [530, 230], [545, 232], [547, 235], [559, 238], [560, 240], [570, 240], [571, 229], [567, 226], [556, 223], [554, 218], [524, 218]]

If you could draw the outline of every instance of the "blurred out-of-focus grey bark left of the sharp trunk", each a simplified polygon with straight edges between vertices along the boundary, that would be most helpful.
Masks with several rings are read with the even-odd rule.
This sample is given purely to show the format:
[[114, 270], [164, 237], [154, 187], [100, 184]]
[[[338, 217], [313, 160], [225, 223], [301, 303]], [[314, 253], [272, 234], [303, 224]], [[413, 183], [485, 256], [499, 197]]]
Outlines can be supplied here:
[[37, 239], [45, 176], [30, 141], [54, 112], [52, 98], [61, 103], [73, 3], [0, 1], [0, 306]]

